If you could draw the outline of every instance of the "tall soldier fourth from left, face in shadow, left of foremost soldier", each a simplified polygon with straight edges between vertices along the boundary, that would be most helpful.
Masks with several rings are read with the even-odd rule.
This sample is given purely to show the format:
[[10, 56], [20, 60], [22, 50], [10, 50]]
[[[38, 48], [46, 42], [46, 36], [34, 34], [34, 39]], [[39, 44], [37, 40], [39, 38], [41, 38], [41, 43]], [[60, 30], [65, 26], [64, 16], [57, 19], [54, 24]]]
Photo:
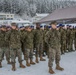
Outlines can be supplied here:
[[[39, 51], [41, 51], [41, 52], [43, 51], [42, 48], [40, 49], [42, 41], [43, 41], [43, 32], [40, 29], [40, 25], [36, 24], [36, 29], [34, 30], [34, 45], [36, 48], [36, 63], [39, 63], [39, 61], [38, 61]], [[45, 59], [43, 59], [43, 57], [42, 57], [42, 53], [40, 54], [40, 61], [45, 61]]]

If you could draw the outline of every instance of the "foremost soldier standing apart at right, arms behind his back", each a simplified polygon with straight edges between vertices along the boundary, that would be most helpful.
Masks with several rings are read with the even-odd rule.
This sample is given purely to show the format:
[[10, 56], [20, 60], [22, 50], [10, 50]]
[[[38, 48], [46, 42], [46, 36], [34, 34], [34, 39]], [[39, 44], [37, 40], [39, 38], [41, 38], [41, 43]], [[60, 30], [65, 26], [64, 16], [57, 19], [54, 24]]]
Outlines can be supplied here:
[[56, 69], [63, 71], [64, 69], [60, 67], [60, 56], [61, 56], [61, 51], [60, 51], [60, 33], [56, 29], [56, 22], [52, 22], [51, 26], [52, 29], [51, 31], [48, 31], [46, 34], [45, 41], [49, 45], [49, 73], [54, 74], [55, 72], [53, 71], [53, 62], [55, 58], [55, 63], [56, 63]]

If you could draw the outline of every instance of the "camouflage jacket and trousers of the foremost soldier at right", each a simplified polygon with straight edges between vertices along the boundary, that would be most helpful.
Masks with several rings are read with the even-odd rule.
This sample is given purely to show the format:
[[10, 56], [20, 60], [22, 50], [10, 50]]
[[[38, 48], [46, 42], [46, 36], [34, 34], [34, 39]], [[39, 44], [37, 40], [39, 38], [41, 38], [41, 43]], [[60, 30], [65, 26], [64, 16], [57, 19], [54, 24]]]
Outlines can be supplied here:
[[56, 29], [52, 29], [46, 33], [45, 41], [49, 45], [49, 68], [52, 68], [55, 59], [56, 64], [60, 61], [60, 33]]

